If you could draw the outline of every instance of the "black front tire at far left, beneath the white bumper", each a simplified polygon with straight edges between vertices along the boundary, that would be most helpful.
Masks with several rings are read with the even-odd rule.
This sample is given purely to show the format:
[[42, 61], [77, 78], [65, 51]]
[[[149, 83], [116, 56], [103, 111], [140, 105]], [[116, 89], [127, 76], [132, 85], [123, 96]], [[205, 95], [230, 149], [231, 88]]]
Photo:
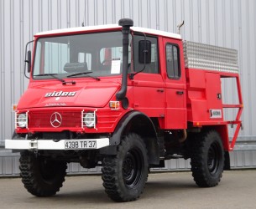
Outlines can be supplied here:
[[20, 176], [29, 193], [34, 196], [54, 196], [60, 191], [65, 181], [66, 162], [46, 160], [28, 151], [21, 153], [19, 162]]

